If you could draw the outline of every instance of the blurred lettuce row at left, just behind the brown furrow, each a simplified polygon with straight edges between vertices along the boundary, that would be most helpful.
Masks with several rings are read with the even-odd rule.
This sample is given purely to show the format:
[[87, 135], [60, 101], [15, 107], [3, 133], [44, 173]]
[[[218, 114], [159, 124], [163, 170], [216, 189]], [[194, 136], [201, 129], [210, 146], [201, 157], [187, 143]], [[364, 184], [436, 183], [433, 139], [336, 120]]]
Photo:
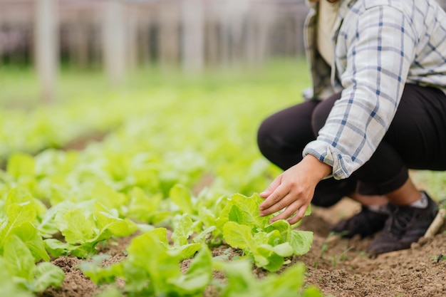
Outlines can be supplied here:
[[[106, 100], [84, 95], [52, 105], [25, 102], [16, 108], [1, 108], [0, 164], [4, 165], [13, 152], [36, 154], [49, 147], [66, 147], [85, 136], [102, 135], [125, 123], [129, 115], [142, 115], [152, 108], [147, 105], [147, 96], [168, 100], [172, 94], [152, 90], [144, 98], [138, 98], [137, 93], [132, 98], [133, 104], [123, 104], [120, 93], [110, 91], [105, 96]], [[150, 105], [156, 108], [156, 100]]]

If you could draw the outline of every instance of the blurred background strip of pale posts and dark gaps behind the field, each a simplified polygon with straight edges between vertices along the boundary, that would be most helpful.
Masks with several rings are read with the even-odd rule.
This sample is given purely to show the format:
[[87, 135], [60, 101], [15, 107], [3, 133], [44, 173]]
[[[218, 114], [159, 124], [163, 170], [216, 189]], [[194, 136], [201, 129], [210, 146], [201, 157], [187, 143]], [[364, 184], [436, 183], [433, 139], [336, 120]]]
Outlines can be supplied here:
[[[446, 7], [446, 0], [437, 0]], [[304, 0], [0, 0], [0, 68], [31, 67], [51, 100], [63, 67], [120, 83], [304, 55]]]

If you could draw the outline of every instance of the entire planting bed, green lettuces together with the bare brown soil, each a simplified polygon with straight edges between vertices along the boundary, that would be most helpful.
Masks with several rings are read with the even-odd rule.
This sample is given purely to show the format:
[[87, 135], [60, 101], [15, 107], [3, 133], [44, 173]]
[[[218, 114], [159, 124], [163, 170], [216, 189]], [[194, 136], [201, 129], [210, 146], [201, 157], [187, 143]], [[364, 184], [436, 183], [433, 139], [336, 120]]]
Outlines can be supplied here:
[[[132, 88], [2, 114], [0, 296], [445, 296], [443, 229], [369, 259], [371, 239], [329, 236], [358, 211], [348, 199], [299, 226], [259, 217], [256, 193], [280, 171], [256, 129], [300, 100], [308, 78], [296, 69], [140, 75]], [[445, 175], [416, 177], [445, 196]]]

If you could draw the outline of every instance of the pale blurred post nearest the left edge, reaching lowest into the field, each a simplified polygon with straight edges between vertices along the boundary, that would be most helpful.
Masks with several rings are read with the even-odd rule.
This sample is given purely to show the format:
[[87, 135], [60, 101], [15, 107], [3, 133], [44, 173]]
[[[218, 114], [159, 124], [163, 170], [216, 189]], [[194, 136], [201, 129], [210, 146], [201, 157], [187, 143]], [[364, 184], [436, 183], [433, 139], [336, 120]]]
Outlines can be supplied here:
[[35, 57], [43, 101], [51, 103], [56, 90], [58, 72], [57, 0], [38, 0], [36, 3]]

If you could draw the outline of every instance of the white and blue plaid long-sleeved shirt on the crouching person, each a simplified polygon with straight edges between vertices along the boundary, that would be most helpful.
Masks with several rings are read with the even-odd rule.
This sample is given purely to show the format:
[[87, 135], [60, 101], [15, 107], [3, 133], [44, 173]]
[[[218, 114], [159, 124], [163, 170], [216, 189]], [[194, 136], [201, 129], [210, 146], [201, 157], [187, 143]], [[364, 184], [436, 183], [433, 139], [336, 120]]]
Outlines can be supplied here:
[[312, 98], [342, 95], [303, 155], [331, 165], [333, 177], [343, 179], [375, 152], [406, 83], [446, 93], [446, 13], [435, 0], [341, 0], [331, 67], [316, 49], [317, 4], [309, 5], [305, 36]]

